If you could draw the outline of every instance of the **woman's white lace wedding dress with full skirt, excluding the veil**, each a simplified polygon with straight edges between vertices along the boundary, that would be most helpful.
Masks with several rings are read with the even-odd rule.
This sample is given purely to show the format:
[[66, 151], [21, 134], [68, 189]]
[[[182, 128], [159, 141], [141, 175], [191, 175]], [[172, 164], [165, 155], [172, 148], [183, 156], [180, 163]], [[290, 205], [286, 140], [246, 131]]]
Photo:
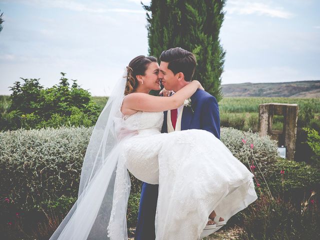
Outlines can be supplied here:
[[141, 181], [159, 184], [157, 240], [198, 239], [213, 209], [227, 221], [257, 199], [253, 174], [212, 133], [160, 133], [163, 112], [122, 118], [126, 130], [135, 131], [123, 141], [125, 166]]

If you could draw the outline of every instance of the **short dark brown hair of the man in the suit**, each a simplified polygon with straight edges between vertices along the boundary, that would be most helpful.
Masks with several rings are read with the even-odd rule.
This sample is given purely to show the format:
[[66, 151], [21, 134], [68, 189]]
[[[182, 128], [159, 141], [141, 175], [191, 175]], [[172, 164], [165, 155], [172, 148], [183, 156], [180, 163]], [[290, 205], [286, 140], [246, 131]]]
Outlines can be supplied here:
[[196, 60], [192, 52], [182, 49], [181, 47], [174, 47], [162, 51], [160, 61], [168, 62], [168, 69], [175, 75], [182, 72], [184, 80], [191, 81], [193, 76]]

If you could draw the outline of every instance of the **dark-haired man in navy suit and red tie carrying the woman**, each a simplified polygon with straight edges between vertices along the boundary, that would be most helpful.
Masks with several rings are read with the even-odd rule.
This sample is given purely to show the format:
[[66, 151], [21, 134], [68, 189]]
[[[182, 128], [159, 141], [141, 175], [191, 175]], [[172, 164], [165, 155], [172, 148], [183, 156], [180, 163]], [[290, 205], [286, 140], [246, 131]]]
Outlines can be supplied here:
[[[158, 78], [166, 90], [176, 92], [191, 81], [195, 70], [194, 55], [181, 47], [162, 51]], [[186, 129], [203, 129], [220, 138], [218, 103], [214, 96], [197, 89], [188, 106], [164, 112], [161, 132]], [[142, 182], [135, 240], [155, 239], [154, 218], [158, 197], [158, 185]], [[196, 206], [195, 206], [196, 207]]]

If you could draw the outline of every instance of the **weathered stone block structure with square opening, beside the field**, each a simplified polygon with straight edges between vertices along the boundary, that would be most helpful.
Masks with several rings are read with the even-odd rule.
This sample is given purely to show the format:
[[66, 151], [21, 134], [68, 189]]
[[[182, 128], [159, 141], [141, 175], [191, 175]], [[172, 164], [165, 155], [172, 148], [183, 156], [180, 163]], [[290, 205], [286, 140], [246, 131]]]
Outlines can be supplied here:
[[[272, 130], [274, 115], [283, 116], [283, 129]], [[293, 160], [296, 140], [298, 105], [287, 103], [263, 103], [259, 105], [259, 135], [270, 135], [278, 145], [286, 146], [286, 158]]]

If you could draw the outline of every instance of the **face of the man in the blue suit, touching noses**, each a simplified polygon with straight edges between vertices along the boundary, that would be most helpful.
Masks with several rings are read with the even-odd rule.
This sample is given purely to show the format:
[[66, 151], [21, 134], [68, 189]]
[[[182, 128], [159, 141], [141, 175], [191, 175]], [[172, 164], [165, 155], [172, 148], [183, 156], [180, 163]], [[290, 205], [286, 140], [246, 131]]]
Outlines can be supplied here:
[[161, 80], [162, 85], [167, 90], [177, 91], [178, 77], [177, 74], [168, 69], [168, 62], [161, 61], [159, 67], [158, 78]]

